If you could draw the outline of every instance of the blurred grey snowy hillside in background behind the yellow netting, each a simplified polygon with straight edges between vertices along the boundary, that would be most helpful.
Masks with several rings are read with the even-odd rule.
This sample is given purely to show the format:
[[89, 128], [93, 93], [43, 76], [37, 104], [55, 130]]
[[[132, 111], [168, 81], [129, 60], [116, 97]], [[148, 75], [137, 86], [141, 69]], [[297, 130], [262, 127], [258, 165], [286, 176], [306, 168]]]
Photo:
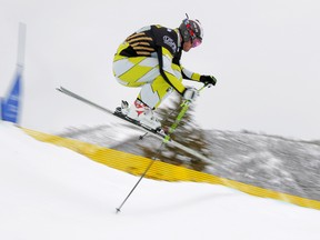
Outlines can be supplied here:
[[[123, 124], [104, 124], [98, 127], [73, 128], [61, 137], [72, 138], [92, 144], [117, 149], [137, 156], [147, 156], [146, 149], [159, 148], [160, 142], [150, 136], [143, 141], [137, 141], [141, 132]], [[174, 136], [177, 142], [183, 143], [188, 138], [181, 137], [181, 129]], [[123, 133], [126, 132], [126, 136]], [[204, 138], [203, 138], [204, 136]], [[263, 136], [250, 132], [233, 132], [206, 130], [202, 142], [211, 162], [203, 172], [221, 178], [261, 187], [273, 191], [298, 196], [320, 201], [320, 144], [276, 136]], [[191, 142], [184, 144], [191, 147]], [[196, 149], [196, 147], [191, 147]], [[171, 150], [162, 149], [162, 161], [172, 156]], [[184, 153], [184, 152], [183, 152]], [[150, 152], [148, 152], [150, 156]], [[184, 156], [174, 157], [177, 163], [183, 162], [188, 168], [194, 168]], [[168, 161], [169, 160], [169, 161]], [[179, 162], [180, 160], [180, 162]], [[197, 167], [197, 166], [196, 166]]]

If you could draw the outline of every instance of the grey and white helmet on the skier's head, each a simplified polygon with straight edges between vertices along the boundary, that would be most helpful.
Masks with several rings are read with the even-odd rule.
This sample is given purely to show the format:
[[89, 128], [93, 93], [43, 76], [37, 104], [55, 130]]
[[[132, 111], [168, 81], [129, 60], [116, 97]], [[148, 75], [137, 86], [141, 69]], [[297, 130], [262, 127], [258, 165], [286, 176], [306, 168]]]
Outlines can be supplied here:
[[193, 44], [196, 39], [198, 39], [198, 44], [199, 44], [202, 41], [203, 29], [199, 20], [190, 20], [189, 18], [182, 20], [182, 23], [179, 27], [179, 31], [184, 42], [191, 40]]

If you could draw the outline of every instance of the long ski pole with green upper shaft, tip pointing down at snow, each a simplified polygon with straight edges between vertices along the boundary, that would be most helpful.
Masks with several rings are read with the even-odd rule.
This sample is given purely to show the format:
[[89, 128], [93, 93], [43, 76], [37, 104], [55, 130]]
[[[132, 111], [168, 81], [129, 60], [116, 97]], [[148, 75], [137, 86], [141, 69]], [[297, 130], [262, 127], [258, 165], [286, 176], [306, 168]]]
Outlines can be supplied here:
[[[202, 91], [206, 87], [211, 87], [210, 84], [204, 84], [202, 88], [200, 88], [198, 90], [198, 92]], [[161, 152], [161, 149], [163, 146], [167, 144], [168, 141], [170, 141], [170, 134], [174, 132], [174, 130], [177, 129], [178, 124], [180, 123], [180, 121], [182, 120], [183, 116], [186, 114], [186, 112], [189, 109], [191, 101], [190, 100], [184, 100], [181, 104], [182, 109], [179, 112], [178, 117], [176, 118], [174, 122], [172, 123], [172, 126], [169, 129], [168, 134], [166, 136], [166, 138], [163, 139], [163, 141], [161, 142], [161, 146], [158, 148], [158, 151], [156, 153], [156, 157], [153, 157], [150, 161], [150, 163], [148, 164], [148, 167], [146, 168], [144, 172], [141, 174], [141, 177], [139, 178], [139, 180], [136, 182], [136, 184], [133, 186], [133, 188], [131, 189], [131, 191], [128, 193], [128, 196], [126, 197], [126, 199], [121, 202], [121, 204], [116, 208], [117, 212], [119, 213], [121, 211], [121, 208], [124, 206], [124, 203], [127, 202], [127, 200], [130, 198], [130, 196], [132, 194], [132, 192], [136, 190], [136, 188], [139, 186], [139, 183], [141, 182], [141, 180], [144, 178], [144, 176], [147, 174], [147, 172], [150, 170], [150, 168], [152, 167], [152, 164], [154, 163], [154, 161], [158, 159], [158, 156]]]

